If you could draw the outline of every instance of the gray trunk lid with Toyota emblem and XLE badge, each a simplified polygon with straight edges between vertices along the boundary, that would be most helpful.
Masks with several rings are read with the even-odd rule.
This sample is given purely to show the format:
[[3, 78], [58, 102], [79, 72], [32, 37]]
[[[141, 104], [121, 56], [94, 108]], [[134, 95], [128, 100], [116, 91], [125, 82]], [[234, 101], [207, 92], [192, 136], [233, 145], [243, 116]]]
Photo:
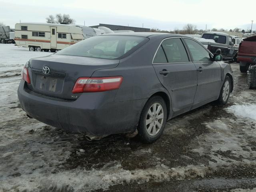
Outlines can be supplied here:
[[80, 56], [51, 55], [30, 60], [28, 88], [34, 92], [62, 99], [76, 99], [72, 94], [79, 77], [91, 77], [100, 69], [115, 68], [119, 60]]

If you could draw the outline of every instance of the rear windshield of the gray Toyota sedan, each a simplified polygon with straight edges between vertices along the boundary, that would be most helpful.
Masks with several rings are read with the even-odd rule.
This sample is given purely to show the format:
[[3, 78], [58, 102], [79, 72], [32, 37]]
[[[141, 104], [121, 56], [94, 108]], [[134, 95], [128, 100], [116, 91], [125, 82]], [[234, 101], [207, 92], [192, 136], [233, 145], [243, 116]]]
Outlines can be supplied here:
[[69, 46], [56, 54], [116, 59], [131, 54], [147, 41], [148, 38], [138, 36], [94, 36]]

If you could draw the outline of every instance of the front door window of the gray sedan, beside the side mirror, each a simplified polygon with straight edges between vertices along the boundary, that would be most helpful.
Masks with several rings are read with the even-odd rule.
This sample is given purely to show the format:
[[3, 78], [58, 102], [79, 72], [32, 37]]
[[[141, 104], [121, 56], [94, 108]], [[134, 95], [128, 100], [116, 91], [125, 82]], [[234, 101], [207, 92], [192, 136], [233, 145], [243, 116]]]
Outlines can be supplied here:
[[188, 45], [193, 61], [211, 61], [211, 57], [208, 51], [206, 51], [198, 42], [184, 38], [184, 41]]

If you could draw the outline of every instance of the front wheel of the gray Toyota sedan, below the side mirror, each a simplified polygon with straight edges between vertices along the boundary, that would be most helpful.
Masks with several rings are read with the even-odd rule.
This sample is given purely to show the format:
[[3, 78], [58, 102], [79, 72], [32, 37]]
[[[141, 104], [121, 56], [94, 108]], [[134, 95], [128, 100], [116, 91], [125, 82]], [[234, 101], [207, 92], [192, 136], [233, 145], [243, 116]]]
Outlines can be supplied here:
[[220, 96], [217, 100], [219, 106], [224, 106], [228, 102], [228, 98], [230, 95], [230, 88], [231, 88], [231, 80], [229, 76], [225, 77], [224, 83], [220, 90]]

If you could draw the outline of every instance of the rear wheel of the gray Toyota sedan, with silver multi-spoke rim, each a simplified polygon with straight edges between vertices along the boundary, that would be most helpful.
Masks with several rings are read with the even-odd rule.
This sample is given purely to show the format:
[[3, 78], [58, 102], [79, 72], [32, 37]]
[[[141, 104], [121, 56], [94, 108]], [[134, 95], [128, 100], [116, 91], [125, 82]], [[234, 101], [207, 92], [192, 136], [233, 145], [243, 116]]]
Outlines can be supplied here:
[[167, 108], [164, 99], [160, 96], [150, 98], [140, 115], [138, 137], [142, 142], [156, 141], [164, 131], [167, 120]]

